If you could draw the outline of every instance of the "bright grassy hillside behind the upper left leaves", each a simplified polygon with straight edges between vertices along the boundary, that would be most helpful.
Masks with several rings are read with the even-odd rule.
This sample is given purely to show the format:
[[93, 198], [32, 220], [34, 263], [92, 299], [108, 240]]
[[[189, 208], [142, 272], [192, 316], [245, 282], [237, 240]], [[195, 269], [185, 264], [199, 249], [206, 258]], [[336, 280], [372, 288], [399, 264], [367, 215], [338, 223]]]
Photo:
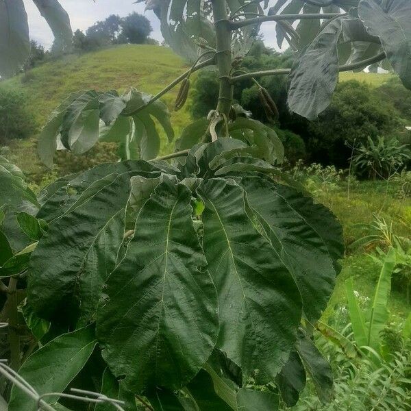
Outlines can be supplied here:
[[[18, 75], [3, 82], [3, 86], [25, 92], [40, 129], [52, 110], [71, 92], [83, 89], [124, 92], [133, 86], [155, 94], [186, 69], [183, 60], [169, 48], [121, 45], [79, 56], [67, 55], [36, 67], [28, 75]], [[176, 95], [177, 88], [162, 101], [169, 106], [177, 138], [190, 120], [190, 114], [185, 109], [173, 112]], [[165, 136], [162, 137], [161, 153], [169, 153], [173, 146], [166, 142]], [[44, 171], [38, 164], [35, 142], [36, 136], [33, 136], [10, 146], [14, 162], [28, 174]]]

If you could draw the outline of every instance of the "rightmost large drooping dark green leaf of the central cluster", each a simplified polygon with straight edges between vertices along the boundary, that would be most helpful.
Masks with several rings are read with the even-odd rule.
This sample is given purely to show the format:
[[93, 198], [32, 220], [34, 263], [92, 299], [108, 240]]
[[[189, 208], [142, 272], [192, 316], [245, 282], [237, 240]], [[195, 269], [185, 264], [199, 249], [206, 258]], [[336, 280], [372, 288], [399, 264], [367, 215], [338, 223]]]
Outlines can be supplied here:
[[[241, 185], [247, 192], [251, 208], [256, 212], [267, 238], [288, 267], [303, 299], [303, 312], [315, 322], [327, 306], [334, 289], [336, 273], [327, 246], [304, 216], [301, 208], [310, 208], [312, 214], [322, 214], [322, 207], [296, 190], [282, 186], [263, 176], [243, 177]], [[282, 196], [286, 191], [288, 198]], [[300, 207], [294, 208], [293, 203]], [[323, 221], [328, 225], [328, 221]]]

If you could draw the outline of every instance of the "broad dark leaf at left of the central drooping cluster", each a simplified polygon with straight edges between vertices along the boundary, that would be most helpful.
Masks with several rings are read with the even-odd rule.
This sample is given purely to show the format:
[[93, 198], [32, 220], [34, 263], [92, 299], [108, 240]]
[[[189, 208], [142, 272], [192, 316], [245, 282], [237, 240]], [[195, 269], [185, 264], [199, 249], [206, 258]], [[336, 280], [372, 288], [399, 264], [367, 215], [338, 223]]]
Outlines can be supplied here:
[[30, 262], [27, 292], [42, 318], [92, 318], [123, 242], [129, 193], [127, 173], [97, 180], [40, 240]]

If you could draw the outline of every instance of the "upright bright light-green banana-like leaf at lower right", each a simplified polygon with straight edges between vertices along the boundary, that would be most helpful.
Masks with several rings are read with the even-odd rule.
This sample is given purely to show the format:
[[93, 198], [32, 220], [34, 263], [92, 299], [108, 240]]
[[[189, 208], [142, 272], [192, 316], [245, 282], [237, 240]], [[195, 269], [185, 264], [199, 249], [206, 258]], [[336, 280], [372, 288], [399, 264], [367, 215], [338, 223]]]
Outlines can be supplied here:
[[375, 294], [369, 312], [368, 323], [366, 323], [368, 326], [366, 345], [372, 347], [376, 351], [379, 349], [379, 333], [382, 332], [388, 321], [387, 304], [391, 292], [391, 275], [393, 274], [395, 264], [396, 251], [394, 248], [391, 248], [386, 255], [381, 272], [379, 273], [377, 287], [375, 288]]

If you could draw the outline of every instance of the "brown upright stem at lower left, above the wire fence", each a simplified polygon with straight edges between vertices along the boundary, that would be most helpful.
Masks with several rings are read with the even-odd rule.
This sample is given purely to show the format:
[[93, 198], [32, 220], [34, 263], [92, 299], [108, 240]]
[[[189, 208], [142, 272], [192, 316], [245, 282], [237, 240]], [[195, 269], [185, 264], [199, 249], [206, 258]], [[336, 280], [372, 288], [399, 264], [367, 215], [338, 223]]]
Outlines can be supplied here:
[[16, 329], [18, 327], [18, 301], [16, 295], [17, 279], [10, 278], [8, 285], [8, 300], [10, 303], [8, 312], [9, 343], [10, 343], [10, 366], [17, 371], [20, 368], [20, 336]]

